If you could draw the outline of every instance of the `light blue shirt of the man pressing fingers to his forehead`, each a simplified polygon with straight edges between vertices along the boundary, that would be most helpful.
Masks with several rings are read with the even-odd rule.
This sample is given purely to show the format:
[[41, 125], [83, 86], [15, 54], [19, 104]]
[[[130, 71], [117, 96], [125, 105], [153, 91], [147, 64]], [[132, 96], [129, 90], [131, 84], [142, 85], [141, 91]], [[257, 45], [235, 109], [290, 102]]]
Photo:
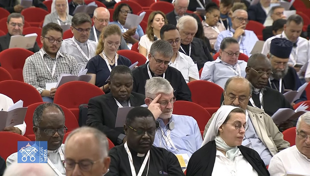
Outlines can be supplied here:
[[[153, 146], [165, 148], [173, 154], [187, 153], [189, 157], [201, 147], [201, 133], [197, 121], [193, 117], [172, 114], [167, 125], [164, 124], [162, 119], [158, 118], [157, 120], [159, 121], [160, 128], [156, 130]], [[171, 144], [167, 145], [162, 136], [162, 131], [164, 132], [164, 135], [167, 136], [169, 124], [172, 121], [174, 122], [175, 127], [173, 130], [170, 130], [170, 137], [176, 149], [171, 147]]]

